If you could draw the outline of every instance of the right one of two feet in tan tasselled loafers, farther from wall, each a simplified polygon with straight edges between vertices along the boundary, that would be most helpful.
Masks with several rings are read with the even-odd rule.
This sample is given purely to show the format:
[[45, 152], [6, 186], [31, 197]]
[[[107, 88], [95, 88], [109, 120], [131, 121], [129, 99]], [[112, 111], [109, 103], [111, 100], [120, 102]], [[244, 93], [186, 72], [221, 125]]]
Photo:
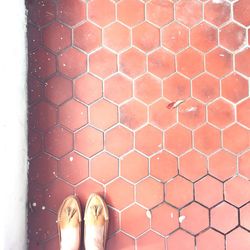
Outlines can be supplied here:
[[108, 222], [108, 208], [104, 200], [97, 194], [91, 194], [84, 213], [85, 250], [105, 249]]

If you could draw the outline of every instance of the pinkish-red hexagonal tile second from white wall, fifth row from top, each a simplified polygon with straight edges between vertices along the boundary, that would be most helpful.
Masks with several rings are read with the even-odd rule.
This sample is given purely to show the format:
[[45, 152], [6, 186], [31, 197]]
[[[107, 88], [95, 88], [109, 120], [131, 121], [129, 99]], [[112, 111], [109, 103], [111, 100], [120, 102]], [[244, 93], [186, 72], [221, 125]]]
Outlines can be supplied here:
[[70, 130], [79, 129], [88, 122], [88, 108], [72, 99], [59, 108], [59, 122]]

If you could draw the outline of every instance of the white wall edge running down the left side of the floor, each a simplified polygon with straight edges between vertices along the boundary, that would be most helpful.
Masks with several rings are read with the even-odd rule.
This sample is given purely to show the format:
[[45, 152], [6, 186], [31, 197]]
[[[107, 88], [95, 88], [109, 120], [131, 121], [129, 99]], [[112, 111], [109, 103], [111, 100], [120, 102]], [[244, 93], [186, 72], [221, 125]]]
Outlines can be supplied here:
[[25, 1], [0, 15], [0, 249], [27, 249], [27, 46]]

